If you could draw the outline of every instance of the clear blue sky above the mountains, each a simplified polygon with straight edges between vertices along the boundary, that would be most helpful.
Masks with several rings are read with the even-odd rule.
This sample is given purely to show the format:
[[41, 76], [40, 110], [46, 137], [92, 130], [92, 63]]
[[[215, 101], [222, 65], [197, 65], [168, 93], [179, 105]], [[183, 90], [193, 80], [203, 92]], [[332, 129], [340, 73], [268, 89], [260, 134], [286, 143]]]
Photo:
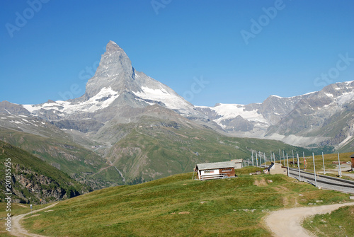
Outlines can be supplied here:
[[83, 95], [109, 40], [195, 105], [354, 80], [350, 0], [4, 0], [0, 25], [0, 101], [11, 103]]

